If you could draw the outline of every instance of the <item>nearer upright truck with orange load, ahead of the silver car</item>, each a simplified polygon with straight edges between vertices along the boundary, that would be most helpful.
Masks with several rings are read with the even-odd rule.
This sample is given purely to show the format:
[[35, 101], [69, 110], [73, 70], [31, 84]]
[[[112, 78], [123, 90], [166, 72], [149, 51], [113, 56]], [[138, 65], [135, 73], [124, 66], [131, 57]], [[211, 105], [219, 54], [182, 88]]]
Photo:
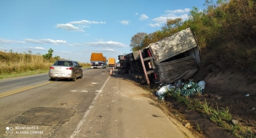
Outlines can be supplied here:
[[102, 53], [92, 52], [90, 61], [91, 68], [106, 68], [106, 57]]

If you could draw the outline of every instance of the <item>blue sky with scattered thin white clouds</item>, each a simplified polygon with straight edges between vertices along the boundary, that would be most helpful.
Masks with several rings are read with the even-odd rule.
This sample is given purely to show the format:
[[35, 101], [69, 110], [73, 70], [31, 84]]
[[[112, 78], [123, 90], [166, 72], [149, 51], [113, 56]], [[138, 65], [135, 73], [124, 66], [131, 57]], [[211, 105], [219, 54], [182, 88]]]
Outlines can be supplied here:
[[160, 30], [167, 19], [187, 19], [205, 0], [3, 0], [0, 4], [0, 50], [89, 62], [92, 52], [107, 59], [131, 52], [137, 32]]

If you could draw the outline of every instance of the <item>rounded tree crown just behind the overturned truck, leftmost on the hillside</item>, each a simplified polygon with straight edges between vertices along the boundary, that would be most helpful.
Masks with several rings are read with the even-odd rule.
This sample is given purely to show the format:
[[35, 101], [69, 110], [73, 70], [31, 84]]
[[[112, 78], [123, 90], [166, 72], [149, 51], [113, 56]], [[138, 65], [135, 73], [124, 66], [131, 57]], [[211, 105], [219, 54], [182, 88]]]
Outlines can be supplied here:
[[146, 32], [138, 32], [132, 37], [132, 39], [130, 40], [130, 47], [133, 51], [142, 48], [142, 42], [146, 35]]

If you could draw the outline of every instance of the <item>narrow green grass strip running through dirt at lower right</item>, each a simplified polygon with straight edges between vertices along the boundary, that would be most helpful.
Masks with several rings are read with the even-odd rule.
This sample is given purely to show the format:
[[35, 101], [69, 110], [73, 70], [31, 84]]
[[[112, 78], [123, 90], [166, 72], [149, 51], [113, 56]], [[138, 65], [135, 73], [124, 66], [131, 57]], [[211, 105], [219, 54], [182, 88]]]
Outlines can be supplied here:
[[[240, 124], [232, 124], [232, 115], [228, 107], [219, 109], [216, 103], [215, 108], [213, 108], [210, 106], [210, 103], [207, 103], [206, 99], [205, 102], [201, 102], [196, 99], [196, 96], [194, 96], [193, 99], [182, 97], [179, 92], [174, 92], [174, 90], [167, 90], [164, 96], [171, 97], [180, 104], [186, 105], [187, 108], [200, 112], [203, 117], [210, 119], [214, 124], [223, 128], [225, 132], [235, 137], [256, 137], [249, 128], [244, 128]], [[199, 126], [196, 127], [196, 130], [198, 130], [198, 132], [202, 131]]]

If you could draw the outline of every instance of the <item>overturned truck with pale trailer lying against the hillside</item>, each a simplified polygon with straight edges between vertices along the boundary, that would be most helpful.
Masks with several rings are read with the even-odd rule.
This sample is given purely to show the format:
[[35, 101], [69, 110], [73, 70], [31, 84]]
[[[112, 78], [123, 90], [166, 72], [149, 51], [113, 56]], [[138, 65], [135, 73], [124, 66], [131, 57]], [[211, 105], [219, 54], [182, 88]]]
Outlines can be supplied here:
[[198, 70], [200, 52], [190, 28], [172, 34], [124, 57], [123, 70], [139, 83], [171, 83], [189, 79]]

